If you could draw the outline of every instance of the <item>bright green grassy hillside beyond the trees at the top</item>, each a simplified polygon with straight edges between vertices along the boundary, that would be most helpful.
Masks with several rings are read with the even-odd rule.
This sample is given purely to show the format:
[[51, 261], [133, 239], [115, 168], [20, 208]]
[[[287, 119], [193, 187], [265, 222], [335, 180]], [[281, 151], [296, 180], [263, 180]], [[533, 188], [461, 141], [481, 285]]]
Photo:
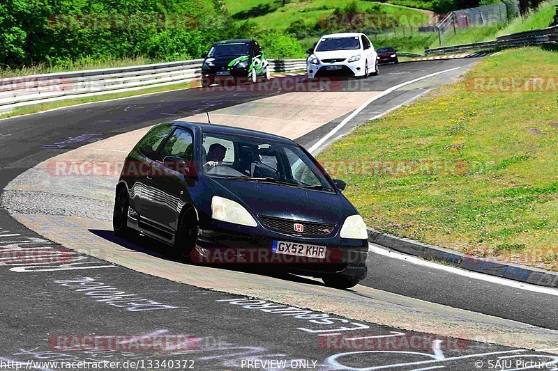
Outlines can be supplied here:
[[[320, 17], [333, 13], [336, 6], [344, 7], [352, 0], [290, 0], [282, 5], [281, 0], [225, 0], [229, 13], [239, 21], [250, 19], [259, 29], [276, 29], [284, 31], [296, 20], [307, 24], [315, 24]], [[359, 8], [365, 11], [379, 5], [380, 9], [390, 15], [414, 15], [416, 19], [425, 19], [419, 10], [406, 9], [398, 6], [377, 4], [374, 1], [357, 1]]]

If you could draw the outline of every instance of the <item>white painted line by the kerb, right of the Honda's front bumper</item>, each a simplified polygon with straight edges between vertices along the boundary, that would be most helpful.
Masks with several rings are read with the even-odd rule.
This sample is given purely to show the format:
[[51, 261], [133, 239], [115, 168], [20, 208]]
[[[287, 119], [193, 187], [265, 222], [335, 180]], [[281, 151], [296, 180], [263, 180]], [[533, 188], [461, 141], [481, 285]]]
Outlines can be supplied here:
[[411, 264], [421, 265], [423, 267], [439, 269], [441, 271], [446, 271], [451, 274], [457, 274], [458, 276], [464, 276], [467, 278], [473, 278], [480, 281], [496, 283], [497, 285], [503, 285], [508, 287], [513, 287], [514, 289], [538, 292], [540, 294], [549, 294], [558, 297], [558, 290], [552, 287], [536, 286], [530, 285], [529, 283], [522, 283], [519, 281], [508, 280], [507, 278], [490, 276], [488, 274], [482, 274], [475, 271], [466, 271], [465, 269], [450, 267], [448, 265], [441, 265], [435, 262], [429, 262], [428, 260], [423, 260], [412, 255], [405, 255], [403, 253], [398, 253], [397, 251], [387, 250], [386, 248], [379, 247], [374, 244], [368, 244], [368, 251], [372, 253], [377, 253], [378, 255], [386, 256], [388, 258], [405, 260]]

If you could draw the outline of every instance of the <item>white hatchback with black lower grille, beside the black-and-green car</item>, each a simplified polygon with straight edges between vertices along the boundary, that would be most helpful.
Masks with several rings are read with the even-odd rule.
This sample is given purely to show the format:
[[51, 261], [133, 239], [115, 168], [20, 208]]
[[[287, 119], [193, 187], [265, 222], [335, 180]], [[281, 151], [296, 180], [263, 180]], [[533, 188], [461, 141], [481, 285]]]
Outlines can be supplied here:
[[333, 33], [319, 39], [309, 49], [308, 77], [327, 74], [368, 77], [378, 74], [377, 54], [364, 33]]

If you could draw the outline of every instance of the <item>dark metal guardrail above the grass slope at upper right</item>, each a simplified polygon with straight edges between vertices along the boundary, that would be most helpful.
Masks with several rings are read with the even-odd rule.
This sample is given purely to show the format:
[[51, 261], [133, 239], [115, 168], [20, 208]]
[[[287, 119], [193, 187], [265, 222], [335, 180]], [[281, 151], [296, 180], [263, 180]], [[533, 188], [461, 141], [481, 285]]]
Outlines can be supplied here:
[[473, 50], [506, 49], [510, 47], [525, 47], [529, 45], [558, 45], [558, 26], [533, 31], [511, 33], [510, 35], [499, 36], [495, 41], [474, 42], [472, 44], [426, 49], [425, 55], [437, 56], [442, 54], [469, 52]]

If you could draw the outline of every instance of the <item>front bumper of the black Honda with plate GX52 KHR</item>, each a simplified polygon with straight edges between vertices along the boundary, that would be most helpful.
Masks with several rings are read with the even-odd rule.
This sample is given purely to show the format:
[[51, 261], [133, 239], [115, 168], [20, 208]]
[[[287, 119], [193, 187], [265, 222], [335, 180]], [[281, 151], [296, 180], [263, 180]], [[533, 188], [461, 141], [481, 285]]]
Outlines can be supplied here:
[[[326, 246], [326, 258], [273, 253], [273, 241]], [[340, 274], [362, 280], [368, 273], [366, 240], [340, 239], [338, 236], [296, 237], [262, 227], [234, 226], [219, 221], [212, 221], [211, 226], [199, 229], [196, 255], [195, 259], [202, 264], [273, 265], [315, 277]]]

